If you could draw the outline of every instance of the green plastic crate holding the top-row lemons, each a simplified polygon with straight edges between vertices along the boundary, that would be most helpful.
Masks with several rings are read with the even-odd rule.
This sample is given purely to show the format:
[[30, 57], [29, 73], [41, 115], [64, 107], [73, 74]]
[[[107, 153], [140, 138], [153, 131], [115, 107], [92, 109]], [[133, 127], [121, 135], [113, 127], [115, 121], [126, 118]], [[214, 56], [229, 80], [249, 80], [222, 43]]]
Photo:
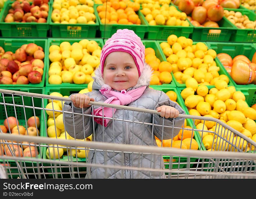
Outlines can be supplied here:
[[[139, 11], [141, 13], [141, 11]], [[167, 40], [169, 35], [177, 35], [189, 37], [189, 35], [193, 32], [193, 26], [189, 22], [189, 26], [150, 26], [147, 20], [145, 19], [144, 15], [141, 13], [143, 20], [145, 20], [146, 25], [148, 26], [148, 32], [146, 33], [147, 39], [153, 39], [153, 40]]]

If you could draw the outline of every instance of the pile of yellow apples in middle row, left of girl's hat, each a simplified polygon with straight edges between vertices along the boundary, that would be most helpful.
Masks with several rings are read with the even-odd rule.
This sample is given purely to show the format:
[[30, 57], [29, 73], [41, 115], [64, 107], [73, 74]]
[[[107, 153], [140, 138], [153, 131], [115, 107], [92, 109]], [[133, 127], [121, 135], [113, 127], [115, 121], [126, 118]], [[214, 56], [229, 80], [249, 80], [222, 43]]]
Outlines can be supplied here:
[[94, 40], [64, 41], [49, 47], [49, 84], [88, 84], [99, 65], [101, 47]]

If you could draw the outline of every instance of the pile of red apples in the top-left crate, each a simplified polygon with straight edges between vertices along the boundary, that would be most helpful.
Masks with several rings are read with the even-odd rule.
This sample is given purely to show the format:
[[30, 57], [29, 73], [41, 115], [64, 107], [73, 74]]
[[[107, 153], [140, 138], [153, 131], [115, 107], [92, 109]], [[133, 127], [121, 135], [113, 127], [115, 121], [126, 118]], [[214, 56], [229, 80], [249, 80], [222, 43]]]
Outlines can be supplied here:
[[49, 11], [49, 0], [33, 0], [30, 5], [29, 1], [23, 0], [12, 3], [4, 21], [10, 22], [37, 22], [46, 23]]

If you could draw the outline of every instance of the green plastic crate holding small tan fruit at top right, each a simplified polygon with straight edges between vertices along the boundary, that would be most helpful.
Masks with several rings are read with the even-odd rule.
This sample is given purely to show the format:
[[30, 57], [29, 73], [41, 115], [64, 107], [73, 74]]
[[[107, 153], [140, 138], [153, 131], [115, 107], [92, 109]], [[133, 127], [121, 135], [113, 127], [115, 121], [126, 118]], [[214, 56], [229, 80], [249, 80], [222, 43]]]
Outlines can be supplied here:
[[[250, 21], [256, 20], [255, 12], [248, 10], [248, 9], [234, 9], [234, 8], [225, 8], [224, 10], [233, 10], [234, 12], [241, 12], [242, 15], [247, 15]], [[228, 19], [227, 19], [228, 20]], [[254, 29], [241, 29], [237, 28], [234, 24], [232, 24], [234, 28], [237, 30], [232, 36], [230, 37], [230, 41], [235, 42], [256, 42], [256, 33]]]

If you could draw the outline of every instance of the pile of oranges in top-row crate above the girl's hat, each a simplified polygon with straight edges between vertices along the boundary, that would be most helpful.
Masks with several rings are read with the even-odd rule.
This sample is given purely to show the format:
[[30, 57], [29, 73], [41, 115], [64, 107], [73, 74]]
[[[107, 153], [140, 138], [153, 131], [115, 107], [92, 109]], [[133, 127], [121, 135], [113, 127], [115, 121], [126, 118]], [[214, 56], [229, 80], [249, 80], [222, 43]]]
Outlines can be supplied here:
[[110, 0], [97, 6], [100, 21], [106, 24], [141, 24], [136, 11], [140, 4], [129, 0]]

